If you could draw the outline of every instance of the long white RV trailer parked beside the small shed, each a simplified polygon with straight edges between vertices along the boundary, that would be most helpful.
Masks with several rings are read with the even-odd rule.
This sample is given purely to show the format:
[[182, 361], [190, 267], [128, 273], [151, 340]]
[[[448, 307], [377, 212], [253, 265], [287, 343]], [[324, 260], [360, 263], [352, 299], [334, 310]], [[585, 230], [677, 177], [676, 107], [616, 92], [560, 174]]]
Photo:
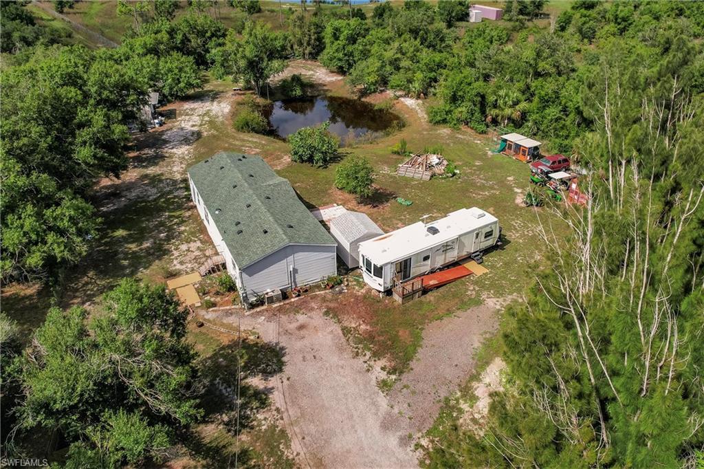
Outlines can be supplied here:
[[468, 256], [480, 256], [496, 245], [498, 220], [481, 208], [460, 208], [431, 223], [417, 222], [359, 244], [364, 281], [386, 292]]

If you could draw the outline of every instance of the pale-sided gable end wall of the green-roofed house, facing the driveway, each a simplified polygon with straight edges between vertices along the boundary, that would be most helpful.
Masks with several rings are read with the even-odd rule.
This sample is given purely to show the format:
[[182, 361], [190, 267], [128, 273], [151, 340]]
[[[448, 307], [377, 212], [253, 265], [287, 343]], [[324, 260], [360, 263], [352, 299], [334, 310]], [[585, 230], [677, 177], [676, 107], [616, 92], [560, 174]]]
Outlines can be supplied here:
[[286, 246], [242, 269], [241, 273], [249, 295], [263, 294], [268, 289], [288, 289], [291, 284], [318, 282], [337, 273], [335, 246]]

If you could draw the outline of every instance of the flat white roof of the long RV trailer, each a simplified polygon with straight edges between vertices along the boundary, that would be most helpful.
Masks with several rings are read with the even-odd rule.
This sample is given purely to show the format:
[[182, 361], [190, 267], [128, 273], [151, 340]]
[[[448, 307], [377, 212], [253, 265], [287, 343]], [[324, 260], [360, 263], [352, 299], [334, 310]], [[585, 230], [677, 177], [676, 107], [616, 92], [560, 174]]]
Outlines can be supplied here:
[[[432, 223], [417, 222], [359, 244], [360, 254], [368, 256], [377, 265], [406, 258], [424, 251], [466, 232], [495, 223], [496, 217], [481, 208], [460, 208], [448, 213], [445, 218]], [[427, 228], [436, 227], [439, 232], [431, 235]]]

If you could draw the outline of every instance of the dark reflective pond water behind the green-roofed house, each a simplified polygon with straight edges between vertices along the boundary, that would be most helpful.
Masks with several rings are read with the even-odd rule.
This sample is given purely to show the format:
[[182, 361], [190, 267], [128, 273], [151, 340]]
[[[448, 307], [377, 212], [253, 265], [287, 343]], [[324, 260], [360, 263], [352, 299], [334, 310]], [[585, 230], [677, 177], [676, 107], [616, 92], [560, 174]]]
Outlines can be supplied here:
[[375, 109], [372, 104], [359, 99], [339, 96], [311, 96], [301, 99], [274, 101], [265, 113], [272, 130], [286, 138], [301, 127], [329, 122], [328, 130], [345, 139], [352, 133], [355, 138], [368, 132], [384, 132], [403, 125], [403, 120], [392, 113]]

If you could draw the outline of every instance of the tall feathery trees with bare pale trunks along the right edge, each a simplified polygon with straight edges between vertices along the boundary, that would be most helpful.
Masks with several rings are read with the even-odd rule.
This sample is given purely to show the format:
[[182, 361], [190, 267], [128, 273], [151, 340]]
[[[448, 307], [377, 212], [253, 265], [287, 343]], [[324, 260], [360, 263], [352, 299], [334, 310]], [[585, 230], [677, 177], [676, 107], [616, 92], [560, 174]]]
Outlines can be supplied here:
[[[544, 227], [551, 265], [503, 319], [507, 389], [481, 430], [436, 428], [429, 467], [693, 467], [700, 457], [700, 30], [667, 20], [671, 8], [691, 14], [684, 4], [574, 7], [572, 18], [612, 18], [576, 77], [578, 111], [594, 123], [574, 142], [591, 199], [554, 212], [572, 235], [562, 244]], [[665, 27], [650, 30], [650, 15]]]

